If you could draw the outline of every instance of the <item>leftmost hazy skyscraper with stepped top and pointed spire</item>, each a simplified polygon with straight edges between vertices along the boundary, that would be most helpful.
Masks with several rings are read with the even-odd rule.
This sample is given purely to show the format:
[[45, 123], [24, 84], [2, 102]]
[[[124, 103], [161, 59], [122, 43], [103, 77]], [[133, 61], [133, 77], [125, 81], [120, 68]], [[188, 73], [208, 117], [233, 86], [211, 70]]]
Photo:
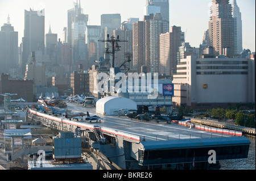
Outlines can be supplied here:
[[8, 16], [0, 31], [0, 73], [10, 73], [18, 60], [18, 32], [14, 31]]

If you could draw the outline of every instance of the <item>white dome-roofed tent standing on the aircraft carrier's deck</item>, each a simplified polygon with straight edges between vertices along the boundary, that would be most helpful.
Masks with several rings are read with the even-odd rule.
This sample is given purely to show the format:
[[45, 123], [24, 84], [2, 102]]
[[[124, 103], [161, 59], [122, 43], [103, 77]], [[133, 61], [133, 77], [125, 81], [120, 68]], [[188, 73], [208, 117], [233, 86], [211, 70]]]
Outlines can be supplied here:
[[96, 102], [96, 113], [101, 115], [114, 115], [114, 111], [121, 109], [136, 110], [137, 103], [131, 99], [118, 96], [107, 96]]

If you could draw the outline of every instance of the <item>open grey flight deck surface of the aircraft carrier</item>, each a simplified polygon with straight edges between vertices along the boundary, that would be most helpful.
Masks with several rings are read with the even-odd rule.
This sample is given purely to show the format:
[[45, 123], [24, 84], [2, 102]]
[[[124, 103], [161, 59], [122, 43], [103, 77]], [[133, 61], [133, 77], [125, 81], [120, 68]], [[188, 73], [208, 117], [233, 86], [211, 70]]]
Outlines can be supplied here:
[[[94, 107], [81, 107], [77, 104], [68, 103], [68, 108], [73, 112], [89, 111], [90, 115], [97, 115]], [[117, 131], [134, 134], [145, 141], [167, 141], [179, 139], [194, 139], [194, 138], [213, 138], [213, 137], [230, 137], [228, 134], [213, 133], [201, 131], [187, 125], [180, 125], [178, 123], [167, 124], [166, 121], [145, 121], [138, 119], [131, 119], [124, 115], [97, 115], [102, 118], [101, 122], [81, 120], [81, 123], [89, 123], [98, 125], [102, 128], [112, 128]]]

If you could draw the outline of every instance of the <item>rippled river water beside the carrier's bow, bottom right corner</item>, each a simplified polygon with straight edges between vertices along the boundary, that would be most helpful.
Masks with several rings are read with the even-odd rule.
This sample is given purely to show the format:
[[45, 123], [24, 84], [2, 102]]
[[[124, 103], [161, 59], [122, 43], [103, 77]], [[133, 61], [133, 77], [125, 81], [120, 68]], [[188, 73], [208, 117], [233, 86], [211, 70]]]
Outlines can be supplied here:
[[251, 142], [248, 158], [220, 161], [220, 170], [255, 170], [255, 137], [246, 137]]

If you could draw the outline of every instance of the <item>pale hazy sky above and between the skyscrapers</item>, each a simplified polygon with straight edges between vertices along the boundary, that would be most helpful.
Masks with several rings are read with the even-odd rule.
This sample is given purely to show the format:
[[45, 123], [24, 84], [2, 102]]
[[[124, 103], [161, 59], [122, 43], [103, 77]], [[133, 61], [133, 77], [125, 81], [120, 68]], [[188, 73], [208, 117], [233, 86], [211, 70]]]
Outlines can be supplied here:
[[[19, 32], [19, 43], [24, 31], [24, 10], [45, 7], [45, 32], [51, 22], [52, 33], [63, 39], [63, 27], [67, 27], [67, 10], [76, 0], [0, 0], [0, 26], [7, 22], [10, 14], [14, 30]], [[204, 31], [208, 29], [209, 7], [212, 0], [170, 0], [170, 26], [180, 26], [187, 32], [185, 40], [192, 47], [202, 43]], [[230, 0], [232, 3], [233, 0]], [[89, 15], [90, 25], [100, 25], [101, 14], [121, 14], [122, 22], [129, 18], [143, 20], [146, 0], [81, 0], [84, 14]], [[242, 13], [243, 48], [255, 52], [255, 0], [237, 0]]]

